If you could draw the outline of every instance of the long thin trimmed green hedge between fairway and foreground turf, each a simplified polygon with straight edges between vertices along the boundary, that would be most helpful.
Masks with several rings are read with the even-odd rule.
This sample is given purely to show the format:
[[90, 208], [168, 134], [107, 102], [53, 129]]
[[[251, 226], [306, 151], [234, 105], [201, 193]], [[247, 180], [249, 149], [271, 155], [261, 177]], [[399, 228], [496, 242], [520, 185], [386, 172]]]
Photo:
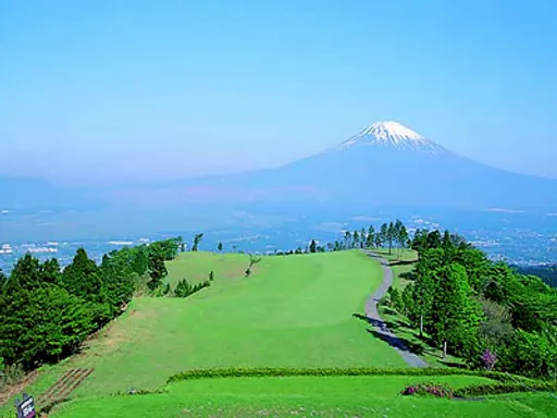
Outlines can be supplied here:
[[334, 376], [480, 376], [499, 382], [533, 383], [535, 380], [496, 371], [474, 371], [449, 368], [227, 368], [194, 369], [171, 376], [166, 383], [183, 380], [214, 378], [281, 378], [281, 377], [334, 377]]

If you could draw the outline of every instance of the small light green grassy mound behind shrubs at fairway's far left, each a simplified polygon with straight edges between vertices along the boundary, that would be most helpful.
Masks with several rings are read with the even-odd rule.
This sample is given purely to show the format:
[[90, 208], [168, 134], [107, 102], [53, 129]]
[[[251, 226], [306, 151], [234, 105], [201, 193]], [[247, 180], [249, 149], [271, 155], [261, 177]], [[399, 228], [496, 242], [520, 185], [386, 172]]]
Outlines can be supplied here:
[[209, 279], [211, 271], [215, 279], [234, 279], [243, 275], [248, 265], [249, 258], [245, 254], [183, 253], [175, 260], [166, 262], [169, 274], [165, 281], [173, 288], [182, 279], [195, 284]]

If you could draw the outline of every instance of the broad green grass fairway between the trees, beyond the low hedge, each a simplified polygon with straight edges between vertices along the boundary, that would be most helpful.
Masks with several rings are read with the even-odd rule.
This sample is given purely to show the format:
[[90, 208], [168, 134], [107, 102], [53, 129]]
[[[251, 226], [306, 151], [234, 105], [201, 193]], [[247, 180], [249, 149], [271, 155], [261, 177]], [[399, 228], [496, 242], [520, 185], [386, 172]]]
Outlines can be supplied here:
[[[208, 267], [213, 257], [188, 256]], [[240, 256], [224, 257], [236, 266]], [[379, 263], [360, 251], [264, 257], [250, 278], [216, 275], [185, 299], [135, 299], [84, 354], [50, 368], [35, 388], [71, 367], [95, 368], [73, 397], [152, 390], [193, 368], [405, 367], [352, 318], [381, 281]]]

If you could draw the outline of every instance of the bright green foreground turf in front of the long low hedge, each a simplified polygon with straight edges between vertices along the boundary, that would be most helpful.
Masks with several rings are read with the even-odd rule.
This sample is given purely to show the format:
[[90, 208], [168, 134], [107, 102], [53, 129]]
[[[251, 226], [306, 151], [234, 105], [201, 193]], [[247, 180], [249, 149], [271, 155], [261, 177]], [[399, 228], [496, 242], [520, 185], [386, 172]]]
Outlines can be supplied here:
[[237, 378], [174, 383], [168, 393], [71, 402], [54, 418], [109, 417], [549, 417], [550, 394], [463, 402], [400, 396], [410, 383], [487, 383], [475, 377]]

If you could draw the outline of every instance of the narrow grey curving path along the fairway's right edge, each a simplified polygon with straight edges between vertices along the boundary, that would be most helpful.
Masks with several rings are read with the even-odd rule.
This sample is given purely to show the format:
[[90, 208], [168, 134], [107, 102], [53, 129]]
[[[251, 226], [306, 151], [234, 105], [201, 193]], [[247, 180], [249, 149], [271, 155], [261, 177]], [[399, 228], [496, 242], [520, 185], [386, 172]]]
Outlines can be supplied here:
[[379, 300], [386, 295], [388, 287], [393, 284], [393, 270], [388, 267], [388, 261], [384, 258], [379, 257], [376, 254], [371, 251], [364, 251], [368, 256], [377, 260], [383, 268], [383, 283], [380, 288], [366, 302], [366, 317], [368, 321], [375, 328], [379, 336], [391, 344], [404, 360], [410, 367], [428, 367], [429, 365], [408, 349], [406, 344], [397, 337], [391, 330], [388, 330], [385, 321], [381, 318], [377, 310]]

